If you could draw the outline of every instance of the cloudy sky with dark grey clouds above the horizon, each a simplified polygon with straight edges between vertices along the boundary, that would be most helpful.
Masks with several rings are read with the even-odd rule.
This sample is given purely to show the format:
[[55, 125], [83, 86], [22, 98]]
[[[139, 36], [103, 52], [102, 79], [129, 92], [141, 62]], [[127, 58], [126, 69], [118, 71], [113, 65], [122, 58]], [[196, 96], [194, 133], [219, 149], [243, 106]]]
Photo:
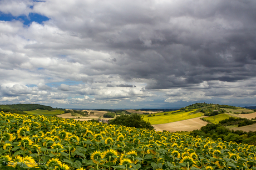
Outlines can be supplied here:
[[1, 0], [0, 104], [256, 105], [255, 0]]

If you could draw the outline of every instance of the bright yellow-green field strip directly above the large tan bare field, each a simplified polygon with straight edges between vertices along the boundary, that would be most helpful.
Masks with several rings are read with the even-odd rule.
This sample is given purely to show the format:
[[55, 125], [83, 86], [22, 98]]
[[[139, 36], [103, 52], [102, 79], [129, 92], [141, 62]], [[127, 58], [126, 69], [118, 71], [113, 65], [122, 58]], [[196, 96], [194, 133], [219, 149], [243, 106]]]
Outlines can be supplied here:
[[[170, 122], [176, 122], [176, 121], [181, 121], [181, 120], [187, 120], [187, 119], [193, 119], [195, 117], [200, 117], [203, 116], [201, 112], [197, 114], [191, 114], [191, 112], [196, 111], [194, 109], [193, 111], [188, 111], [188, 112], [178, 112], [174, 113], [175, 111], [170, 111], [170, 112], [161, 112], [161, 113], [156, 113], [156, 114], [150, 114], [150, 115], [155, 115], [155, 116], [150, 116], [147, 117], [148, 115], [143, 115], [143, 120], [149, 121], [151, 125], [157, 125], [157, 124], [163, 124], [163, 123], [170, 123]], [[164, 115], [164, 114], [168, 115]]]

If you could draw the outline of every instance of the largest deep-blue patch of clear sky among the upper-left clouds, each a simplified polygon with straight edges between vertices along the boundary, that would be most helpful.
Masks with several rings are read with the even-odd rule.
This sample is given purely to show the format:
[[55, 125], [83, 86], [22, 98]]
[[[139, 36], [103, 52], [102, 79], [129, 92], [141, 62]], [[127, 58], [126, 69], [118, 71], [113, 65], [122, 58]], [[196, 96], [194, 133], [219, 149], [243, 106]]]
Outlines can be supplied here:
[[4, 14], [2, 12], [0, 12], [0, 20], [4, 20], [4, 21], [12, 21], [12, 20], [20, 20], [21, 22], [23, 22], [24, 25], [29, 25], [32, 22], [37, 22], [39, 24], [42, 24], [44, 21], [49, 20], [50, 18], [46, 17], [46, 16], [42, 16], [41, 14], [38, 13], [29, 13], [28, 17], [27, 16], [12, 16], [12, 14]]

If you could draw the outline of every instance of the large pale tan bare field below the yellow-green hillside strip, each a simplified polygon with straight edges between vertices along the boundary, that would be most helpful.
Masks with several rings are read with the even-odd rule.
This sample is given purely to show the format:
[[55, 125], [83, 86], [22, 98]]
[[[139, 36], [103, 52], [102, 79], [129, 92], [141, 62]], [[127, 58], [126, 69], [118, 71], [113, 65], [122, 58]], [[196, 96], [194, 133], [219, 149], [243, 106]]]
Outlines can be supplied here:
[[[205, 116], [201, 116], [205, 117]], [[205, 126], [208, 122], [200, 120], [200, 117], [196, 117], [194, 119], [182, 120], [178, 122], [164, 123], [159, 125], [152, 125], [155, 127], [156, 131], [193, 131], [198, 130], [202, 126]]]

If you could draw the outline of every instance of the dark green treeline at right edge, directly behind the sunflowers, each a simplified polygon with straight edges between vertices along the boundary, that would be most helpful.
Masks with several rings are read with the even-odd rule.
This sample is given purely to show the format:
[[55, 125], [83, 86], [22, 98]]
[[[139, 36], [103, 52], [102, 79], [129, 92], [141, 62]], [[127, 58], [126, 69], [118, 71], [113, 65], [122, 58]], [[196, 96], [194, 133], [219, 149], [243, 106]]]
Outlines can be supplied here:
[[218, 140], [218, 138], [221, 138], [221, 140], [227, 142], [232, 141], [237, 143], [245, 143], [248, 145], [256, 145], [256, 131], [245, 132], [229, 130], [220, 123], [208, 123], [207, 125], [201, 127], [200, 130], [192, 131], [190, 135], [194, 137], [210, 137], [214, 140]]

